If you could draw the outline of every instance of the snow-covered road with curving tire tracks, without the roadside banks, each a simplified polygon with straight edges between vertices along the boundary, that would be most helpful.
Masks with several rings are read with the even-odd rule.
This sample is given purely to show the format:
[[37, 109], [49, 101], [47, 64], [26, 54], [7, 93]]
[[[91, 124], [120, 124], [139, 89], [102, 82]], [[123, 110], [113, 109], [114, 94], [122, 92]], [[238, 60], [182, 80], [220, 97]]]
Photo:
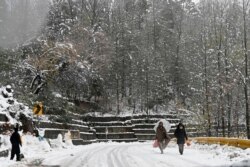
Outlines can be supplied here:
[[221, 166], [231, 162], [207, 150], [186, 147], [184, 155], [171, 143], [164, 154], [151, 143], [98, 143], [74, 150], [51, 152], [44, 166], [61, 167], [199, 167]]

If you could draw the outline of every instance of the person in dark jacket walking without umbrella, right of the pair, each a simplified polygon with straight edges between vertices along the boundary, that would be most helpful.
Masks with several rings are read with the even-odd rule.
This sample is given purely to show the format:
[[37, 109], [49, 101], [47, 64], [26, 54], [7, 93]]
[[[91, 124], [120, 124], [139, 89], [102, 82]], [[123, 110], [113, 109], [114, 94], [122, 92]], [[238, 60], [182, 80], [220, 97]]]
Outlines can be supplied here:
[[174, 132], [174, 136], [177, 138], [177, 144], [179, 146], [179, 152], [182, 155], [183, 151], [184, 151], [184, 144], [185, 141], [188, 140], [187, 134], [186, 134], [186, 130], [185, 127], [182, 123], [179, 123], [175, 132]]

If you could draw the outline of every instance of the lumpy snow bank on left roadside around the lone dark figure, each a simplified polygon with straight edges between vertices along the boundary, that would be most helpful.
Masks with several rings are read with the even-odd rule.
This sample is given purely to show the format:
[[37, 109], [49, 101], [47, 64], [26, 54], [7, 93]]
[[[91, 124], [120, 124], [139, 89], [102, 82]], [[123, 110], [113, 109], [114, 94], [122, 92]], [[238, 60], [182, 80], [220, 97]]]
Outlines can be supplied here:
[[[20, 133], [21, 134], [21, 133]], [[5, 138], [4, 149], [11, 150], [10, 145], [10, 136], [3, 135]], [[22, 135], [22, 147], [21, 153], [24, 155], [24, 159], [21, 162], [17, 162], [14, 160], [10, 160], [10, 152], [8, 157], [0, 157], [0, 166], [1, 167], [9, 167], [9, 166], [28, 166], [32, 165], [39, 165], [43, 159], [46, 157], [47, 154], [50, 152], [61, 152], [76, 148], [73, 146], [72, 141], [70, 138], [66, 138], [66, 141], [62, 141], [62, 136], [59, 135], [57, 139], [41, 139], [32, 135]], [[67, 151], [66, 151], [67, 152]]]

